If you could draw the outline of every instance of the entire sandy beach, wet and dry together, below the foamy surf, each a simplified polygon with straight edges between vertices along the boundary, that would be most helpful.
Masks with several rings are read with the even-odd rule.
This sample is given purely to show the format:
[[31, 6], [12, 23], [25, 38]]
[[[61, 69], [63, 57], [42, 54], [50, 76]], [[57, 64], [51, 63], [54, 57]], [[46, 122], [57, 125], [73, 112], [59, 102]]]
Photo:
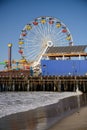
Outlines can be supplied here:
[[73, 96], [55, 104], [8, 115], [0, 118], [0, 130], [87, 130], [86, 104], [87, 95]]

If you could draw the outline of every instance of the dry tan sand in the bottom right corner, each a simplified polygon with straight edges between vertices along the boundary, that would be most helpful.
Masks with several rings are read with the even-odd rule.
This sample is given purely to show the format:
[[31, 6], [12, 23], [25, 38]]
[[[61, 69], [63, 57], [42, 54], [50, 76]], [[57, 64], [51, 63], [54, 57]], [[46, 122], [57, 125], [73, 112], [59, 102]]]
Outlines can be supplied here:
[[62, 119], [48, 130], [87, 130], [87, 107]]

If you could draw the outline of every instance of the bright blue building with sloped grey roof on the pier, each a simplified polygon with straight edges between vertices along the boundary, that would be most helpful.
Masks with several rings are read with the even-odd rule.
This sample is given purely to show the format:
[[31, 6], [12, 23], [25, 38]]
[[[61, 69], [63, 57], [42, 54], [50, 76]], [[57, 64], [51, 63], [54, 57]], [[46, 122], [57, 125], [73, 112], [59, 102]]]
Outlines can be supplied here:
[[86, 75], [87, 46], [49, 47], [41, 60], [42, 75]]

